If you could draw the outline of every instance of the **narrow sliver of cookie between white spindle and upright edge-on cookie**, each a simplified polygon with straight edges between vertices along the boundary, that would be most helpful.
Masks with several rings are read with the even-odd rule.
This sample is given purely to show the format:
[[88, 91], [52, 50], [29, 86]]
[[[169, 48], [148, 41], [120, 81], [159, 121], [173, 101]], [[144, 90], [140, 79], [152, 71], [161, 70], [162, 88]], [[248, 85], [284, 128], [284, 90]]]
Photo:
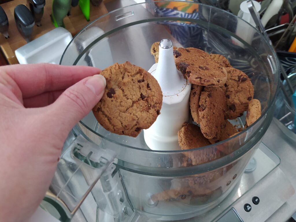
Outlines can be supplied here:
[[200, 102], [200, 94], [203, 90], [203, 86], [199, 85], [191, 85], [191, 91], [190, 91], [190, 112], [192, 115], [192, 118], [194, 122], [197, 124], [200, 124], [200, 118], [198, 116], [198, 108], [199, 108], [199, 102]]

